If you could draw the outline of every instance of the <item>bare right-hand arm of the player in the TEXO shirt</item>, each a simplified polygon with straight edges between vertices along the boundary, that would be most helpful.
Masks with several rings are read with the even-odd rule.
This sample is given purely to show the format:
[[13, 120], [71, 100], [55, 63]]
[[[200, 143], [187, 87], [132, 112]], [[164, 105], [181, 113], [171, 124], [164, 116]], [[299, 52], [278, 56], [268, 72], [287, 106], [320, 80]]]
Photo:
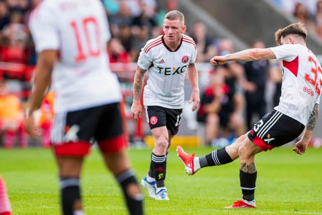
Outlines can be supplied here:
[[200, 95], [199, 95], [199, 86], [198, 86], [198, 72], [195, 63], [190, 63], [188, 65], [188, 79], [192, 87], [192, 93], [190, 96], [189, 103], [193, 102], [191, 108], [192, 111], [195, 111], [200, 104]]

